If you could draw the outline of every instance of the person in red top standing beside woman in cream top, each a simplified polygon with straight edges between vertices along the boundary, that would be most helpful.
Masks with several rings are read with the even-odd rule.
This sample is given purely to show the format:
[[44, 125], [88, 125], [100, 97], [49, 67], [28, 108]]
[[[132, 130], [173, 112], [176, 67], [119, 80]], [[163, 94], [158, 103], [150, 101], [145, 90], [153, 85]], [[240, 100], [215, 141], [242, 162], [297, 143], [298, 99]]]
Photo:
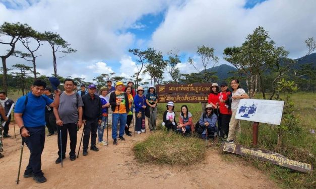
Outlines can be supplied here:
[[219, 93], [219, 113], [220, 113], [220, 137], [224, 138], [228, 136], [229, 121], [231, 118], [231, 110], [229, 97], [231, 97], [231, 91], [228, 89], [226, 82], [222, 82], [221, 92]]

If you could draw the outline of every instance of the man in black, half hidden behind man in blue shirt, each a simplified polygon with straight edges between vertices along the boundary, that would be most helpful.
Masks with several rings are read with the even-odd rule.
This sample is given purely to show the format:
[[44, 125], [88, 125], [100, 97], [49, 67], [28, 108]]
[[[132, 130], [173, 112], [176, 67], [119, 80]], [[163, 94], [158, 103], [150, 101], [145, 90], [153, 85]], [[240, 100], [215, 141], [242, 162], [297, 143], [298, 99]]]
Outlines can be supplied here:
[[[49, 99], [54, 100], [54, 96], [51, 93], [51, 88], [50, 87], [46, 87], [44, 89], [44, 94]], [[48, 129], [48, 135], [47, 136], [49, 137], [49, 136], [55, 134], [55, 132], [57, 131], [56, 118], [54, 116], [53, 109], [50, 108], [49, 106], [46, 106], [46, 109], [45, 109], [45, 122], [46, 122], [46, 127]]]

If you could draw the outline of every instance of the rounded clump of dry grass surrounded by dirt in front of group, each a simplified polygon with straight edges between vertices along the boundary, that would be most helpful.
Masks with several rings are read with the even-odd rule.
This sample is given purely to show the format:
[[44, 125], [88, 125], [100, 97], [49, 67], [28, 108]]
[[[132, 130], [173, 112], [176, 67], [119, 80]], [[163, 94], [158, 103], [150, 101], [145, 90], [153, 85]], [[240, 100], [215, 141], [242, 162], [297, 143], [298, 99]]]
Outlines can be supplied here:
[[169, 165], [190, 165], [205, 157], [205, 144], [195, 137], [183, 137], [173, 132], [157, 131], [135, 145], [140, 162]]

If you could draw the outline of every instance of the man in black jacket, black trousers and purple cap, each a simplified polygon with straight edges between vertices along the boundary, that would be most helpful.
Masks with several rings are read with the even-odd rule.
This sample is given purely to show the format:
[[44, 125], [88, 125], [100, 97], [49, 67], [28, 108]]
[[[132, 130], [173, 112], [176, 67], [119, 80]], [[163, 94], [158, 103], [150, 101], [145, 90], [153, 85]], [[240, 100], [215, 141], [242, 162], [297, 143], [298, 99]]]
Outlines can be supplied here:
[[100, 97], [95, 95], [96, 85], [89, 84], [88, 94], [82, 96], [83, 116], [82, 122], [84, 123], [84, 136], [83, 136], [83, 155], [88, 155], [88, 146], [91, 133], [91, 146], [90, 150], [95, 152], [99, 149], [95, 146], [97, 139], [98, 125], [102, 122], [102, 105]]

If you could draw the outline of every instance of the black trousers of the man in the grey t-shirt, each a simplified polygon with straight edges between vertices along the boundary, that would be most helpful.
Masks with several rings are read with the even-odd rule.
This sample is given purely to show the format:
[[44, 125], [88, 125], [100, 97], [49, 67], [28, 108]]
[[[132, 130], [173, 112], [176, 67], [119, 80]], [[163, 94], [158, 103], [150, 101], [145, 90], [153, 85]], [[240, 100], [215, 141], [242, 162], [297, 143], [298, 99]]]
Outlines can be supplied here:
[[58, 126], [58, 139], [57, 139], [58, 152], [57, 154], [59, 157], [60, 157], [60, 130], [61, 130], [62, 157], [66, 157], [68, 133], [69, 133], [69, 139], [70, 139], [69, 156], [75, 156], [76, 145], [77, 145], [77, 123], [67, 123], [62, 126]]

